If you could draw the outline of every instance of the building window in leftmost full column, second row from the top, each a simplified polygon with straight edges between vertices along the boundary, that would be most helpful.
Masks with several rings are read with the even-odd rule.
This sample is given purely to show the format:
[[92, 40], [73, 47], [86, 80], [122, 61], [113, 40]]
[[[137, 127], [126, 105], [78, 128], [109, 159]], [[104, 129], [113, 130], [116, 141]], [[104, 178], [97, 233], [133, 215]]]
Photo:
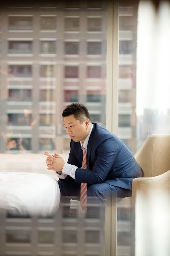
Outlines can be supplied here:
[[32, 53], [32, 41], [9, 41], [9, 53]]

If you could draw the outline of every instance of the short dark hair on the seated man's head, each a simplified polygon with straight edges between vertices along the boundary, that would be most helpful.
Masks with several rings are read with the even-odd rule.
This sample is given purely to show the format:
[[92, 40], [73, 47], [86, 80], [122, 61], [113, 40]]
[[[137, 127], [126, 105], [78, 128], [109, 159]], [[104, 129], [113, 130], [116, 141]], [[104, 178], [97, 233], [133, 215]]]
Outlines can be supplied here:
[[91, 122], [87, 108], [81, 103], [72, 103], [63, 110], [63, 117], [70, 115], [74, 115], [75, 119], [79, 120], [80, 123], [84, 121], [84, 117]]

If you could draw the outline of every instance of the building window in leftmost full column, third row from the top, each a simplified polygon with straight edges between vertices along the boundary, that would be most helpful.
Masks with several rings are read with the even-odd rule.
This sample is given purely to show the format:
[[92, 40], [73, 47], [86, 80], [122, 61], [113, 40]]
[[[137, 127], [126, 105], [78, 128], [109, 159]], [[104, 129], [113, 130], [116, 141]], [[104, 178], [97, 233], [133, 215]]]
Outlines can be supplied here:
[[9, 75], [14, 77], [31, 77], [31, 65], [9, 65]]

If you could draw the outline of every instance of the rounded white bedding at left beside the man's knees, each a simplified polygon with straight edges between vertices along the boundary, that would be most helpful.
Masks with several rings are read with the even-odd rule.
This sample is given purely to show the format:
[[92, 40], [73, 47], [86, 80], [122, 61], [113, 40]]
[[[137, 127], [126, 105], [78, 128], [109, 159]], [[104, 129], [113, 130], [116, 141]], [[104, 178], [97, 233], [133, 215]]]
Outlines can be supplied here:
[[1, 172], [0, 209], [10, 215], [53, 215], [59, 207], [60, 189], [55, 178], [38, 173]]

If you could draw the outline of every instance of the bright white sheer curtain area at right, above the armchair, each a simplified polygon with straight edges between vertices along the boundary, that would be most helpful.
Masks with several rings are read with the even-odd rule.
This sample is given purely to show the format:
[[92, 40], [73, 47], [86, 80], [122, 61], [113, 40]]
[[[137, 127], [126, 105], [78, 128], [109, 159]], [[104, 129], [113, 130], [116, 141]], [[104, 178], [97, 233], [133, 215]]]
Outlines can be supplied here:
[[[141, 1], [137, 29], [137, 134], [170, 133], [170, 3]], [[169, 121], [169, 122], [168, 122]]]

